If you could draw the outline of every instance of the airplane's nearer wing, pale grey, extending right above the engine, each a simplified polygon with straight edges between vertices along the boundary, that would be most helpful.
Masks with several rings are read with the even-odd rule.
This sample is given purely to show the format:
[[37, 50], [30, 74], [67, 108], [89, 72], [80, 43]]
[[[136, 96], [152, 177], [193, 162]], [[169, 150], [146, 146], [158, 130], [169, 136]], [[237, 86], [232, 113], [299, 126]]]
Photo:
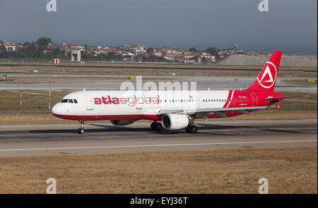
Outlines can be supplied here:
[[232, 111], [239, 111], [243, 114], [249, 114], [248, 110], [258, 110], [258, 109], [266, 109], [266, 106], [257, 106], [257, 107], [237, 107], [237, 108], [212, 108], [212, 109], [178, 109], [178, 110], [162, 110], [159, 111], [158, 115], [163, 114], [201, 114], [202, 116], [206, 114], [217, 114], [224, 118], [228, 117], [224, 114], [224, 112], [232, 112]]

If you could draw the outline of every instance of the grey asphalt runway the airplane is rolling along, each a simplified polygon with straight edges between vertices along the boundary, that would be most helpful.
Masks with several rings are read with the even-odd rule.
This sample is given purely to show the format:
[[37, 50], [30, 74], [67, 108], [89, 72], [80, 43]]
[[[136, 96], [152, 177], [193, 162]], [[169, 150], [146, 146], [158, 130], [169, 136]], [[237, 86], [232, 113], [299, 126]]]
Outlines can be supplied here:
[[196, 134], [184, 130], [153, 132], [150, 123], [130, 126], [88, 123], [78, 135], [77, 123], [0, 126], [0, 157], [56, 154], [317, 147], [317, 119], [245, 120], [196, 123]]

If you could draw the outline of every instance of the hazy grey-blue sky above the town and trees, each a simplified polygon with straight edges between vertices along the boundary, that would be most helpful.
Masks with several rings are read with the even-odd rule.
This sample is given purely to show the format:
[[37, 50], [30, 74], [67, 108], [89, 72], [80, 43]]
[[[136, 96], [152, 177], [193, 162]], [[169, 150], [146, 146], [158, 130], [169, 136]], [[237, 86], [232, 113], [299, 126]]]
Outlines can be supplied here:
[[0, 39], [317, 55], [317, 0], [0, 0]]

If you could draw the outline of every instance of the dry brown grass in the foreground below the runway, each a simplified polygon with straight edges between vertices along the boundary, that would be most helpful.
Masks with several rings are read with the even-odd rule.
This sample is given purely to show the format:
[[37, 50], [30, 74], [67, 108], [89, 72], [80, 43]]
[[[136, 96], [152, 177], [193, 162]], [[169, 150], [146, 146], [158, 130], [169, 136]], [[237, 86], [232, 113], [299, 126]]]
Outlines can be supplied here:
[[317, 147], [0, 158], [0, 193], [317, 193]]

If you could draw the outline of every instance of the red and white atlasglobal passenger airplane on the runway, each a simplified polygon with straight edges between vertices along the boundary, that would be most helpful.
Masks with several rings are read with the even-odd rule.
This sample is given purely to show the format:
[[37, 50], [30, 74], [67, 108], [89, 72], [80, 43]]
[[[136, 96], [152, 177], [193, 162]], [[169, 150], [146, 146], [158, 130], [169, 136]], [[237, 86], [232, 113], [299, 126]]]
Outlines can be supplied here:
[[[110, 120], [126, 126], [150, 120], [151, 130], [182, 130], [197, 133], [197, 118], [228, 118], [266, 109], [281, 102], [284, 94], [273, 92], [282, 51], [274, 51], [251, 87], [246, 90], [98, 90], [67, 94], [52, 108], [58, 118], [81, 123]], [[276, 105], [281, 109], [281, 104]]]

